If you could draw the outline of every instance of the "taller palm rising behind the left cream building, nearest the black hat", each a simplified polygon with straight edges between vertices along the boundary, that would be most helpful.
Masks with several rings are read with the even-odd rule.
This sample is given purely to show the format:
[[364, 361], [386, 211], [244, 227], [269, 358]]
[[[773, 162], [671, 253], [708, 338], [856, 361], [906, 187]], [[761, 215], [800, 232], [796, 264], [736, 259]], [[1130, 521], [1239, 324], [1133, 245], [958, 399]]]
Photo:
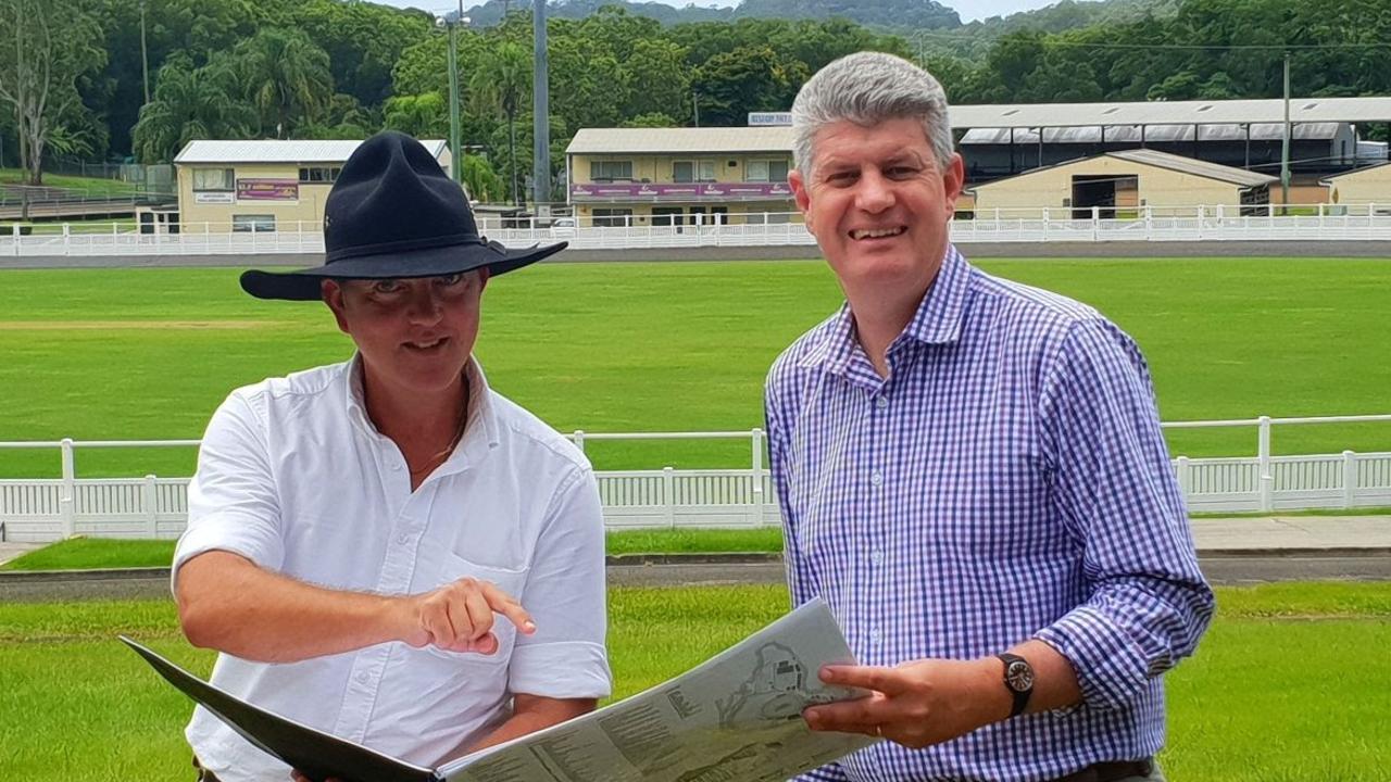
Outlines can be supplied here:
[[295, 125], [317, 120], [334, 96], [328, 54], [305, 33], [263, 29], [232, 50], [243, 95], [260, 111], [262, 129], [289, 138]]

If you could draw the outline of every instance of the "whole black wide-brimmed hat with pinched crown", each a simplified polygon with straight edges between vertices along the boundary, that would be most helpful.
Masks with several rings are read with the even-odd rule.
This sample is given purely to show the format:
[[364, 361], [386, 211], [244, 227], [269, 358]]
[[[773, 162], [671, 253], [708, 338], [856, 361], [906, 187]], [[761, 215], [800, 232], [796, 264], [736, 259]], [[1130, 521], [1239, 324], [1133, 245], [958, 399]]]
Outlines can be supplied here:
[[495, 277], [565, 246], [508, 249], [480, 237], [463, 188], [420, 142], [385, 131], [357, 146], [328, 192], [324, 264], [252, 270], [241, 281], [259, 299], [319, 301], [323, 280], [437, 277], [484, 267]]

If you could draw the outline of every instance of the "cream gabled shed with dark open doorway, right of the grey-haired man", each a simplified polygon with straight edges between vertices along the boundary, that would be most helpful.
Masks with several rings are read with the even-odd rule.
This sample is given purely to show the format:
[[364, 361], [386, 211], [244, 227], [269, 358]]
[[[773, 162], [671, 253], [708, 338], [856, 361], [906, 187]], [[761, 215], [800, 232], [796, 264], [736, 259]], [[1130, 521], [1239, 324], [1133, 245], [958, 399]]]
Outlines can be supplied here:
[[1043, 209], [1059, 218], [1191, 213], [1195, 206], [1264, 212], [1276, 177], [1193, 160], [1155, 149], [1127, 149], [1035, 168], [971, 188], [975, 214], [1036, 218]]

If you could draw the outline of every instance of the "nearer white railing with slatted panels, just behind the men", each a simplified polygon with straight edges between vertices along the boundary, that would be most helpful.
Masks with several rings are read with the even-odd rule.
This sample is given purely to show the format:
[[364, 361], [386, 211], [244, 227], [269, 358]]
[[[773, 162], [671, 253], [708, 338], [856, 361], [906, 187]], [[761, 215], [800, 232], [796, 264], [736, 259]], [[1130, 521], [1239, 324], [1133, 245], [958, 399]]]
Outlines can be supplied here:
[[[1391, 423], [1391, 415], [1170, 422], [1164, 429], [1255, 427], [1256, 455], [1173, 461], [1188, 509], [1193, 512], [1292, 511], [1391, 505], [1391, 452], [1274, 455], [1276, 426]], [[705, 433], [587, 433], [594, 441], [747, 440], [747, 468], [600, 470], [604, 522], [620, 527], [753, 527], [779, 523], [778, 500], [764, 462], [759, 429]], [[85, 448], [189, 448], [198, 440], [25, 441], [0, 449], [58, 449], [61, 477], [0, 480], [0, 532], [6, 540], [49, 541], [93, 537], [175, 537], [188, 518], [186, 477], [79, 479], [74, 454]]]

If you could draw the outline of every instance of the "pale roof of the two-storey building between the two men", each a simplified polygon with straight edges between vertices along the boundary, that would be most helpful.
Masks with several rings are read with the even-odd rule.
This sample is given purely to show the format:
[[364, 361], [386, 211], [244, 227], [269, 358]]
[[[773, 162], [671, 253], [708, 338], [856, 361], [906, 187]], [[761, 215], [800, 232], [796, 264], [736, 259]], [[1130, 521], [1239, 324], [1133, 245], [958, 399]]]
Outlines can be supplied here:
[[583, 128], [566, 154], [791, 153], [791, 128]]

